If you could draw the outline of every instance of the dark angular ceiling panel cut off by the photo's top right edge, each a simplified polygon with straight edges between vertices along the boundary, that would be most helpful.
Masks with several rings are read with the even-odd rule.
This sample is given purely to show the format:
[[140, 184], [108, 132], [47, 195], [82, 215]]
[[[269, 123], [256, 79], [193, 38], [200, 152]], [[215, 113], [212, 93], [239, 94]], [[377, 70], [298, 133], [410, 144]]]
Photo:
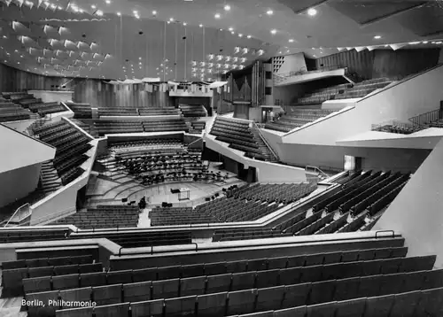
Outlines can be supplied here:
[[332, 8], [338, 12], [354, 19], [361, 25], [369, 24], [381, 19], [391, 18], [401, 12], [407, 12], [417, 6], [426, 4], [426, 1], [405, 1], [405, 0], [331, 0], [328, 2]]

